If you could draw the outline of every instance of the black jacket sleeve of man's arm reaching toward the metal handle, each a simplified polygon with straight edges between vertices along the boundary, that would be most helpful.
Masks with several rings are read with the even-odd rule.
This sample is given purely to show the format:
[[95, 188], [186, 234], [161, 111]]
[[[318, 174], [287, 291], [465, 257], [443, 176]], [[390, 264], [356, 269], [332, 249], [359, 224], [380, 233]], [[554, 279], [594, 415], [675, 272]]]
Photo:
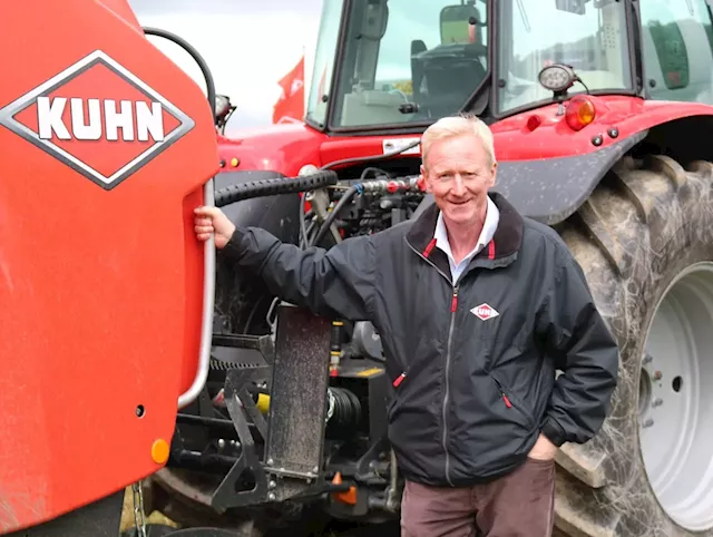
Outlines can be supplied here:
[[265, 230], [238, 227], [223, 252], [260, 275], [273, 294], [287, 302], [324, 316], [370, 319], [375, 271], [370, 235], [349, 238], [330, 250], [301, 250]]

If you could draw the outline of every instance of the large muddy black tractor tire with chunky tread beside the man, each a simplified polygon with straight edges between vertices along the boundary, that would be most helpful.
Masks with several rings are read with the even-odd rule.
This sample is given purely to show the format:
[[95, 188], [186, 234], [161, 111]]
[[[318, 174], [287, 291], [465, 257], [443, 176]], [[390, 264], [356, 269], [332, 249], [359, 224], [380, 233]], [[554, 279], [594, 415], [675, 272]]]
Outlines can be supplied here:
[[682, 271], [713, 261], [713, 165], [624, 157], [556, 228], [586, 274], [621, 362], [600, 431], [585, 445], [563, 446], [557, 456], [555, 535], [713, 536], [686, 531], [663, 510], [644, 468], [638, 418], [645, 340], [656, 305]]

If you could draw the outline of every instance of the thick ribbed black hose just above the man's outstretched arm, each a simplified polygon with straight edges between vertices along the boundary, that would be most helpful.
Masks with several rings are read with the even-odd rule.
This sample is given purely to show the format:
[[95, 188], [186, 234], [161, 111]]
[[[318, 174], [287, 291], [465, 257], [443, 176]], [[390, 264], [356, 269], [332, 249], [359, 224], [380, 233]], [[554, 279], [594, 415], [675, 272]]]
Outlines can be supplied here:
[[223, 207], [231, 203], [253, 197], [293, 194], [335, 185], [336, 172], [324, 170], [301, 177], [275, 177], [273, 179], [250, 180], [231, 185], [215, 192], [215, 206]]

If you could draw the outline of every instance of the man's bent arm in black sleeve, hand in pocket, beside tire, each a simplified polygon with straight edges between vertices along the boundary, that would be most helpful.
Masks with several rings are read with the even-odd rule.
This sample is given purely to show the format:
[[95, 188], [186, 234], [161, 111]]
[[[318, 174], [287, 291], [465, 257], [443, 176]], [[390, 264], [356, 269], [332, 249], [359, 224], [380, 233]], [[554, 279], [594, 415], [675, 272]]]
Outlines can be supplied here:
[[584, 272], [563, 246], [539, 314], [539, 333], [561, 370], [541, 432], [555, 446], [583, 443], [602, 427], [618, 377], [618, 348], [597, 311]]

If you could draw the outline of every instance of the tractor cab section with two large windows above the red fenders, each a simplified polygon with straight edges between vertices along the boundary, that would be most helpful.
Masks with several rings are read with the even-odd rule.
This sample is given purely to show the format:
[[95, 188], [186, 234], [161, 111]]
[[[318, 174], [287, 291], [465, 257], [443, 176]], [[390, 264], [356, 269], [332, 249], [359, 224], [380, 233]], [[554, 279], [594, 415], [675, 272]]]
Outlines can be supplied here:
[[550, 102], [539, 75], [556, 64], [584, 82], [569, 80], [569, 95], [636, 92], [628, 2], [452, 1], [325, 2], [306, 121], [353, 133], [461, 110], [496, 119]]

